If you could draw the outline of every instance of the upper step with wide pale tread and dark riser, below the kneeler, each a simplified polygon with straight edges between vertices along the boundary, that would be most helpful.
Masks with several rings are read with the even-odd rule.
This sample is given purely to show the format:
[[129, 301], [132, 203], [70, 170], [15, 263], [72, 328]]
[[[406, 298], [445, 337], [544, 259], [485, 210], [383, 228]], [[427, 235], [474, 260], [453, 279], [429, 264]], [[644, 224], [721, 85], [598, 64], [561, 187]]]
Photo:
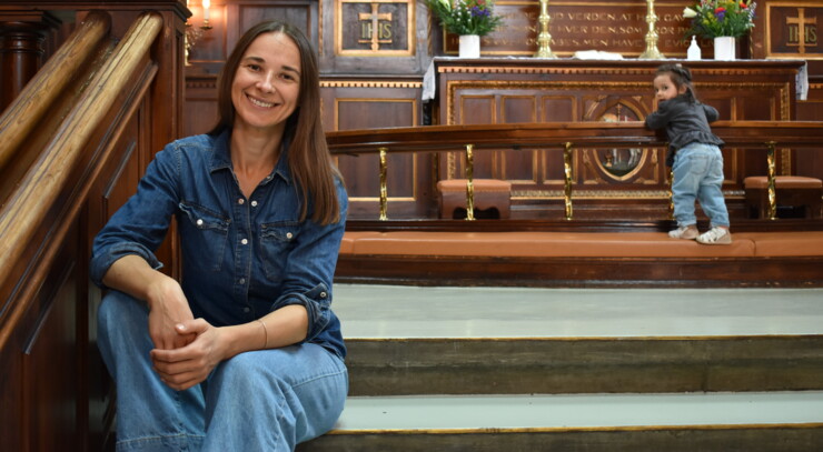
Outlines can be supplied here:
[[823, 290], [335, 285], [351, 395], [823, 390]]

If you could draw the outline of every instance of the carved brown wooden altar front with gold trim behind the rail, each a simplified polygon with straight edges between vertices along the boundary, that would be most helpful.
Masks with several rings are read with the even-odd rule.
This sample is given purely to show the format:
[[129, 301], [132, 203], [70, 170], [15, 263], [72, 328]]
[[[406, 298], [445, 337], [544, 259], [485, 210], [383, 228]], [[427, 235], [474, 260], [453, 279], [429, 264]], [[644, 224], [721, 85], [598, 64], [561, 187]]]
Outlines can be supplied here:
[[[651, 83], [661, 61], [435, 59], [440, 123], [536, 121], [643, 121], [656, 108]], [[791, 120], [795, 108], [793, 62], [688, 63], [698, 98], [725, 120]], [[476, 153], [475, 177], [507, 179], [518, 203], [562, 195], [562, 143], [555, 150]], [[765, 171], [765, 151], [724, 149], [726, 183], [742, 190], [746, 174]], [[573, 157], [576, 195], [667, 198], [664, 149], [581, 149]], [[464, 152], [447, 157], [439, 177], [463, 177]], [[791, 155], [781, 171], [791, 171]], [[786, 163], [789, 162], [789, 163]]]

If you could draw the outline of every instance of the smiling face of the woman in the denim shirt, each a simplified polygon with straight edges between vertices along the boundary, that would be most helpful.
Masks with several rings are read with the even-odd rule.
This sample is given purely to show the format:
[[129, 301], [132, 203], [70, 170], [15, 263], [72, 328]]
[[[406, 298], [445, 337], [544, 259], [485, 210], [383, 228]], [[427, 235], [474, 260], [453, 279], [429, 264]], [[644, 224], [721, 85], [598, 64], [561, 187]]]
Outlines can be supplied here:
[[288, 36], [269, 32], [246, 49], [231, 82], [235, 129], [282, 127], [300, 96], [300, 50]]

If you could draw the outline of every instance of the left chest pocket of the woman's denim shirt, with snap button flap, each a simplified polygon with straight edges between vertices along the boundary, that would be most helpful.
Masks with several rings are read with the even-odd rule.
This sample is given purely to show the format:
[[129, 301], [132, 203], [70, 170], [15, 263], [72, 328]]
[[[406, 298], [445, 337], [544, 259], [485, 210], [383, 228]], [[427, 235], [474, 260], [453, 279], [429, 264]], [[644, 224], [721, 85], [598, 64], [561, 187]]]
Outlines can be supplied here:
[[186, 201], [179, 208], [182, 212], [179, 223], [184, 255], [194, 259], [201, 268], [220, 271], [231, 220]]

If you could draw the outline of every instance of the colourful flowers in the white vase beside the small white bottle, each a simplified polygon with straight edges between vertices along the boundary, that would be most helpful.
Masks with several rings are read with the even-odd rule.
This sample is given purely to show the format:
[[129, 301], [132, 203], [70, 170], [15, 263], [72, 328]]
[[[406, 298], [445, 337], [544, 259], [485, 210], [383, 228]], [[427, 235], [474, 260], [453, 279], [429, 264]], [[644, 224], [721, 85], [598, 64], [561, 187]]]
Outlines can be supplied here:
[[683, 17], [692, 19], [688, 34], [703, 38], [740, 38], [754, 27], [752, 0], [701, 0], [683, 10]]

